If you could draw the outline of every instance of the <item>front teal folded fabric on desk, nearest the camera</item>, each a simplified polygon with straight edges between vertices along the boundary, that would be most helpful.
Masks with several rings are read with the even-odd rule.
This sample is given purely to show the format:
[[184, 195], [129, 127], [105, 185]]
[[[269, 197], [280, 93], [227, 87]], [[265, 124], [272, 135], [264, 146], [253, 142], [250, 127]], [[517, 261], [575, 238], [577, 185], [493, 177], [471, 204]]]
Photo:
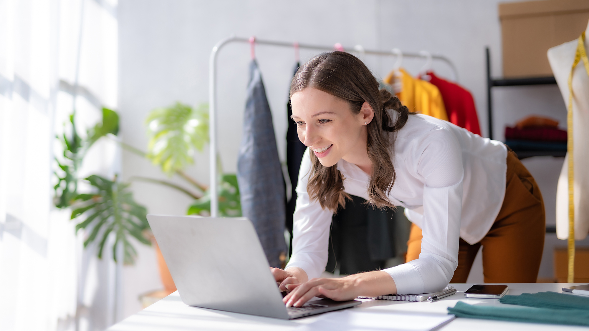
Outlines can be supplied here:
[[474, 306], [459, 301], [456, 306], [448, 307], [448, 313], [471, 319], [589, 326], [589, 311], [581, 309]]

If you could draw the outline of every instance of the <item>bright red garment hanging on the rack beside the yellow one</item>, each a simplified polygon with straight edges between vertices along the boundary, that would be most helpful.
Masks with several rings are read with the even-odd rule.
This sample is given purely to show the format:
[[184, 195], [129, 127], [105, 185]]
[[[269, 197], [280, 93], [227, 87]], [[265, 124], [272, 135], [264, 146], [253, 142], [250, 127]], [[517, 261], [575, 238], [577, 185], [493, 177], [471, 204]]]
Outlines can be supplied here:
[[430, 71], [428, 75], [432, 77], [429, 82], [434, 84], [442, 94], [449, 121], [474, 134], [481, 135], [477, 108], [471, 92], [458, 84], [437, 77], [434, 72]]

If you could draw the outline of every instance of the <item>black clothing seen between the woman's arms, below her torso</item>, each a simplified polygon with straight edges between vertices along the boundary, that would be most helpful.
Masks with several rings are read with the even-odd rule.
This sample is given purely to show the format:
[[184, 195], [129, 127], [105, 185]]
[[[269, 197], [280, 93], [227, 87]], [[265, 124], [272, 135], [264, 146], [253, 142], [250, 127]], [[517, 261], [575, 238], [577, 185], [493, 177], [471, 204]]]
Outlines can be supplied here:
[[352, 196], [332, 217], [329, 260], [325, 270], [355, 274], [383, 269], [395, 257], [395, 210], [378, 210]]

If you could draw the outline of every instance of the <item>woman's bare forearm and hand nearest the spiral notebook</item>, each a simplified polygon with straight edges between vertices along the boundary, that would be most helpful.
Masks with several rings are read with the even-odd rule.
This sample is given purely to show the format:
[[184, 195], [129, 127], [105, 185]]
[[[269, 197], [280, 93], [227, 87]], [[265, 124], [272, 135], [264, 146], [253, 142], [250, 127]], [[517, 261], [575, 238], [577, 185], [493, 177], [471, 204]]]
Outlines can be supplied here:
[[336, 301], [353, 300], [357, 296], [380, 296], [397, 292], [391, 275], [383, 271], [353, 274], [343, 278], [313, 278], [306, 283], [289, 284], [290, 293], [282, 301], [286, 307], [300, 307], [313, 297]]

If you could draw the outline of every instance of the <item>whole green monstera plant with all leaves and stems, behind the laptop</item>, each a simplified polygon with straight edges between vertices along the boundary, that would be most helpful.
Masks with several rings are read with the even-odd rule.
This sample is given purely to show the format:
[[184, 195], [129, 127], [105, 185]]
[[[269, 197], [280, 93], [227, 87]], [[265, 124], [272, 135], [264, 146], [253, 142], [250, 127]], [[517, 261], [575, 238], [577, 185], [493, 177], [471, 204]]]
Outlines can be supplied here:
[[[55, 171], [55, 206], [74, 209], [71, 219], [80, 220], [76, 231], [85, 229], [90, 232], [84, 241], [84, 247], [98, 241], [97, 255], [101, 258], [108, 237], [113, 233], [113, 258], [117, 261], [116, 250], [122, 245], [124, 263], [133, 264], [137, 252], [129, 241], [130, 237], [147, 245], [151, 242], [146, 208], [133, 200], [133, 195], [128, 190], [129, 183], [122, 183], [117, 176], [112, 180], [98, 175], [78, 178], [78, 170], [90, 147], [101, 137], [118, 134], [118, 114], [102, 108], [102, 121], [87, 131], [86, 138], [78, 134], [75, 112], [70, 116], [70, 123], [71, 134], [58, 137], [64, 146], [64, 153], [61, 160], [55, 159], [59, 167], [59, 170]], [[202, 151], [209, 141], [208, 106], [202, 104], [195, 109], [190, 105], [176, 102], [170, 107], [151, 111], [145, 123], [149, 137], [147, 152], [120, 141], [118, 143], [126, 150], [150, 160], [168, 177], [176, 174], [183, 178], [186, 185], [143, 176], [133, 176], [130, 181], [146, 181], [174, 188], [193, 199], [194, 202], [188, 206], [188, 214], [210, 215], [208, 187], [184, 171], [188, 165], [194, 163], [197, 151]], [[241, 216], [239, 187], [235, 174], [222, 174], [219, 179], [220, 216]], [[78, 183], [82, 180], [92, 187], [90, 193], [78, 192]]]

